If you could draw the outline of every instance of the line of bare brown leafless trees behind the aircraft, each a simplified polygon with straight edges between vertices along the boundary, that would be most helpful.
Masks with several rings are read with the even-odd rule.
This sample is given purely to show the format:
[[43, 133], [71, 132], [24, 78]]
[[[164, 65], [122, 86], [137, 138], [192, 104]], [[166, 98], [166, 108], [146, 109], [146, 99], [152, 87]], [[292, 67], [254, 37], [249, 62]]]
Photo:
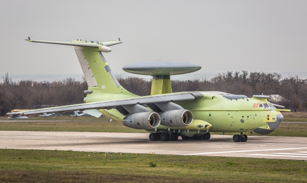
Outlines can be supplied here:
[[[151, 80], [142, 77], [117, 75], [119, 83], [127, 90], [140, 96], [150, 95]], [[13, 109], [33, 109], [34, 105], [71, 105], [83, 103], [88, 89], [85, 78], [78, 81], [65, 78], [58, 81], [13, 81], [6, 73], [0, 83], [0, 111], [2, 115]], [[227, 72], [209, 79], [196, 77], [189, 80], [172, 80], [173, 92], [179, 91], [223, 91], [232, 94], [281, 95], [278, 101], [289, 109], [307, 109], [307, 79], [299, 76], [282, 78], [279, 73]]]

